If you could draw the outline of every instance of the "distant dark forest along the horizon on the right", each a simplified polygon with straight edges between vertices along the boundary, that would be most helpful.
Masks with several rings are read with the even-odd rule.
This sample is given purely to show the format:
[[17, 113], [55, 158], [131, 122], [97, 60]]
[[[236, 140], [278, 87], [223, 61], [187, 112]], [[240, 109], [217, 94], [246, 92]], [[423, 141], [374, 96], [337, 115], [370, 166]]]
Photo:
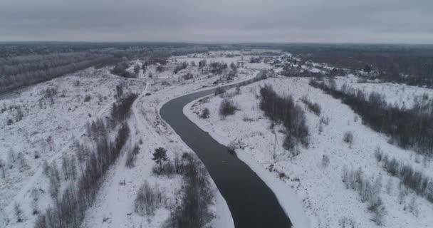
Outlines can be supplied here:
[[384, 81], [433, 87], [433, 46], [311, 45], [290, 46], [285, 50], [304, 61], [365, 73], [374, 71]]

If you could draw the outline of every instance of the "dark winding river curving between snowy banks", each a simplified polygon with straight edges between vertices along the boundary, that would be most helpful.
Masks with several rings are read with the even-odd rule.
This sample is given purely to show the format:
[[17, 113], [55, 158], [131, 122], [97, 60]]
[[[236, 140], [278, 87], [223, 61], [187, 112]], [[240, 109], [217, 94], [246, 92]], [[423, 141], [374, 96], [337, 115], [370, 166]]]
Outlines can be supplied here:
[[265, 182], [229, 152], [227, 147], [216, 142], [182, 112], [187, 103], [212, 93], [214, 89], [170, 100], [162, 106], [160, 114], [207, 167], [216, 187], [229, 205], [236, 228], [291, 227], [290, 219]]

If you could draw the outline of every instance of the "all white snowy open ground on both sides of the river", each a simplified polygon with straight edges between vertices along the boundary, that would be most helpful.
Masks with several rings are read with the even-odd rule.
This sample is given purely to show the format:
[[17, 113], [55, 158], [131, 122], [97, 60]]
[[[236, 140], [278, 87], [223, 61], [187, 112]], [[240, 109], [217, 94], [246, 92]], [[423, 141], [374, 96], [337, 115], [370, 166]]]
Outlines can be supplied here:
[[[131, 135], [122, 149], [124, 152], [105, 175], [98, 197], [86, 212], [81, 227], [163, 227], [172, 208], [179, 205], [184, 179], [180, 175], [153, 174], [152, 152], [157, 147], [165, 147], [169, 160], [174, 160], [192, 150], [161, 119], [160, 108], [180, 95], [248, 80], [262, 69], [282, 70], [264, 61], [249, 63], [251, 57], [259, 57], [251, 55], [262, 52], [210, 51], [174, 56], [168, 58], [160, 72], [158, 65], [147, 66], [145, 73], [140, 68], [137, 78], [114, 76], [110, 68], [88, 68], [3, 95], [0, 100], [0, 128], [3, 129], [0, 133], [0, 165], [4, 170], [4, 178], [0, 178], [0, 227], [33, 227], [35, 191], [38, 192], [36, 206], [40, 211], [53, 204], [48, 192], [48, 178], [41, 169], [43, 162], [60, 164], [63, 157], [75, 155], [74, 140], [94, 147], [94, 142], [85, 135], [86, 123], [110, 115], [118, 93], [116, 86], [120, 85], [124, 93], [139, 95], [127, 120]], [[268, 59], [281, 60], [282, 56]], [[197, 66], [203, 59], [208, 64], [235, 63], [239, 66], [236, 77], [224, 81], [223, 76], [200, 70]], [[184, 61], [188, 63], [187, 68], [174, 73], [174, 68]], [[133, 73], [134, 66], [141, 67], [142, 63], [142, 60], [130, 61], [127, 71]], [[318, 63], [307, 65], [302, 69], [311, 72], [330, 69]], [[187, 74], [192, 78], [185, 78]], [[366, 95], [373, 91], [380, 93], [388, 103], [407, 108], [412, 107], [414, 100], [429, 102], [433, 98], [431, 89], [377, 81], [360, 83], [358, 79], [350, 75], [337, 77], [335, 82], [338, 88], [345, 84]], [[236, 142], [243, 145], [243, 149], [236, 149], [238, 157], [271, 187], [296, 228], [351, 227], [352, 224], [357, 228], [377, 227], [367, 202], [362, 203], [358, 192], [347, 189], [342, 182], [343, 167], [361, 168], [367, 180], [379, 183], [379, 195], [385, 205], [382, 227], [429, 227], [433, 224], [432, 203], [406, 190], [397, 177], [385, 172], [382, 163], [375, 159], [375, 150], [380, 147], [391, 159], [395, 157], [402, 164], [411, 165], [414, 170], [422, 170], [427, 175], [433, 173], [430, 159], [390, 145], [385, 135], [362, 125], [347, 105], [309, 86], [308, 81], [309, 78], [268, 78], [241, 87], [238, 95], [234, 93], [235, 89], [229, 90], [224, 98], [233, 100], [239, 110], [226, 118], [218, 114], [223, 98], [214, 95], [189, 103], [184, 113], [222, 144]], [[275, 130], [271, 130], [271, 121], [259, 108], [259, 90], [265, 84], [270, 84], [278, 95], [292, 95], [305, 110], [310, 145], [299, 147], [297, 156], [289, 155], [282, 147], [283, 127], [276, 125]], [[301, 98], [304, 96], [321, 105], [320, 115], [315, 115], [303, 104]], [[199, 117], [204, 108], [210, 111], [207, 119]], [[324, 119], [329, 123], [323, 124]], [[352, 145], [343, 142], [347, 132], [353, 133]], [[135, 167], [126, 167], [127, 151], [135, 144], [140, 147]], [[325, 158], [328, 162], [324, 162]], [[164, 202], [155, 213], [142, 216], [135, 213], [134, 200], [145, 182], [164, 192]], [[234, 227], [224, 198], [214, 182], [210, 182], [214, 199], [211, 206], [213, 219], [209, 226]], [[67, 183], [62, 183], [60, 189], [63, 190]], [[16, 222], [16, 204], [22, 211], [23, 222]]]

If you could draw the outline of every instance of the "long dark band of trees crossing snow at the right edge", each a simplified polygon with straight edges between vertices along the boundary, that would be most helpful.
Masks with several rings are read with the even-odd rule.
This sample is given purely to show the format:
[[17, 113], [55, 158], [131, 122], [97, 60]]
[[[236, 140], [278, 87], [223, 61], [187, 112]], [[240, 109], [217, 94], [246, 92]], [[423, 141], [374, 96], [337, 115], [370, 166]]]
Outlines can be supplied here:
[[310, 85], [320, 88], [334, 98], [341, 99], [355, 113], [362, 117], [373, 130], [385, 133], [403, 148], [412, 148], [423, 154], [433, 154], [433, 103], [415, 102], [412, 108], [388, 105], [377, 92], [366, 95], [362, 90], [343, 86], [338, 90], [335, 81], [310, 81]]

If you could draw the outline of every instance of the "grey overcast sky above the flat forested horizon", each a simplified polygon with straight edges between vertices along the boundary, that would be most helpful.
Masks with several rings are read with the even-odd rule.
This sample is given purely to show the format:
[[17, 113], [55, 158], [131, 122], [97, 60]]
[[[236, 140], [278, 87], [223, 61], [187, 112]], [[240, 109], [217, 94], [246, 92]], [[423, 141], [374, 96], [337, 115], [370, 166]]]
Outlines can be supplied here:
[[0, 0], [0, 41], [433, 43], [433, 0]]

